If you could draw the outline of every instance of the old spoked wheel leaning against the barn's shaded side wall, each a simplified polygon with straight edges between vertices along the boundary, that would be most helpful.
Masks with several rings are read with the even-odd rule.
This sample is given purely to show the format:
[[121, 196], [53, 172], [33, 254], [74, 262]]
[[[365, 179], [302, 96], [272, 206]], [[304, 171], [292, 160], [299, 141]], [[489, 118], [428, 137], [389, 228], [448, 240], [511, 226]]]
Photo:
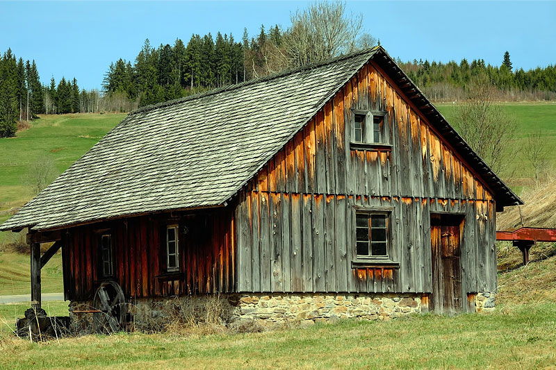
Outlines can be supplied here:
[[95, 309], [93, 323], [97, 333], [112, 333], [124, 330], [127, 305], [122, 287], [114, 280], [108, 280], [98, 287], [93, 301]]

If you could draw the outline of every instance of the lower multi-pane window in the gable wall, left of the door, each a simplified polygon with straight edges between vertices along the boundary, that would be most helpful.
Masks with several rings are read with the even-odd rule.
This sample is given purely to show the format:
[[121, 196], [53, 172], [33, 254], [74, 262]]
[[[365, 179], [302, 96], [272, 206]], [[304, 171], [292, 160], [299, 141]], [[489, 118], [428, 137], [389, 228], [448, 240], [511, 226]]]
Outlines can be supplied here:
[[388, 259], [389, 214], [357, 212], [355, 219], [357, 257]]

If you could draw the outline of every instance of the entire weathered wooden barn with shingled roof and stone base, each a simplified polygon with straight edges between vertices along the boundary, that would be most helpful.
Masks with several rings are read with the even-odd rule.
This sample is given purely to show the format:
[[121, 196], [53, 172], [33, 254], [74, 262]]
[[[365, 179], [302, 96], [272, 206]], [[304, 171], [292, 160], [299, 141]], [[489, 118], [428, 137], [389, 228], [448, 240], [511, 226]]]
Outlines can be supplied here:
[[230, 319], [384, 319], [493, 307], [520, 203], [375, 47], [131, 112], [0, 230], [28, 228], [39, 304], [62, 249], [74, 321], [214, 295]]

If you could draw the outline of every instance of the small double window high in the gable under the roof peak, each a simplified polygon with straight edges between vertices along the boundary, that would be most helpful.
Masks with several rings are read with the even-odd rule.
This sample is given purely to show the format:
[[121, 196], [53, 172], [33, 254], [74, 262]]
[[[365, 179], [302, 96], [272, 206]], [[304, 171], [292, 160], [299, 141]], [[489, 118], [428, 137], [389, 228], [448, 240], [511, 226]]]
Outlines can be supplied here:
[[352, 110], [352, 149], [371, 149], [375, 145], [389, 146], [384, 142], [384, 117], [386, 112]]

